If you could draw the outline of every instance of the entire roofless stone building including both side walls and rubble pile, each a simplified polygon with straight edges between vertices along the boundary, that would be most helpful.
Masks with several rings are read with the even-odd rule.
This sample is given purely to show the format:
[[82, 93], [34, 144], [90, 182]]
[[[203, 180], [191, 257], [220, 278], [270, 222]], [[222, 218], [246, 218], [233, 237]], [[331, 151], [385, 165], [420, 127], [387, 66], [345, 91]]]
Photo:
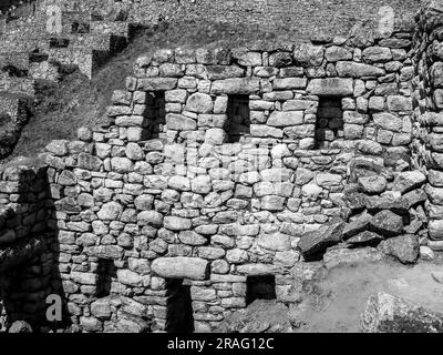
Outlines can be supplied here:
[[310, 263], [442, 250], [442, 13], [140, 58], [109, 126], [3, 166], [3, 318], [207, 332]]

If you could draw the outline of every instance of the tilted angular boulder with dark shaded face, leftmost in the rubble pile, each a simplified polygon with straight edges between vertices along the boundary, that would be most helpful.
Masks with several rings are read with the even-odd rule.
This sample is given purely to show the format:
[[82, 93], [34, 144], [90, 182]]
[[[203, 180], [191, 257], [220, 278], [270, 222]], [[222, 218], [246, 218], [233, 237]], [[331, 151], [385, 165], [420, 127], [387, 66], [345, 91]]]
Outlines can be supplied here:
[[312, 258], [322, 254], [329, 246], [341, 242], [344, 229], [343, 222], [330, 222], [317, 231], [305, 233], [298, 242], [298, 247], [306, 258]]

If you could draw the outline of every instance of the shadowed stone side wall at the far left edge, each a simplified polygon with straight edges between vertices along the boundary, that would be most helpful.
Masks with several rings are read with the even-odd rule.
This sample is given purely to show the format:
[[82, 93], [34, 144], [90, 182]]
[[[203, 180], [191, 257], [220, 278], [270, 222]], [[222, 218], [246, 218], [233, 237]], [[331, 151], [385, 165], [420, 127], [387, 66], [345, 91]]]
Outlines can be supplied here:
[[[0, 316], [6, 325], [45, 323], [53, 292], [54, 241], [48, 233], [47, 175], [41, 163], [0, 172]], [[6, 328], [3, 329], [6, 331]]]

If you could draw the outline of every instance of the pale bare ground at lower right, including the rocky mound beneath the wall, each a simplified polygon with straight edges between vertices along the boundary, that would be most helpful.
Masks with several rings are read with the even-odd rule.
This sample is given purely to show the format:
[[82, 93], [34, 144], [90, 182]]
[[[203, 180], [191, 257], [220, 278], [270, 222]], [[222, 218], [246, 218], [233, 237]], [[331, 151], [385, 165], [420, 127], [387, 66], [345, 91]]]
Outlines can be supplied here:
[[[305, 283], [297, 306], [287, 307], [274, 301], [258, 300], [247, 310], [238, 311], [226, 320], [219, 331], [359, 333], [363, 331], [362, 317], [369, 307], [368, 302], [371, 296], [377, 298], [379, 293], [392, 295], [409, 307], [432, 310], [439, 320], [443, 318], [441, 254], [436, 254], [432, 263], [420, 261], [414, 266], [404, 266], [391, 258], [372, 261], [369, 257], [358, 264], [343, 260], [341, 263], [321, 265], [311, 263], [311, 267], [308, 266], [305, 272], [310, 268], [313, 276]], [[405, 307], [403, 304], [401, 306]], [[371, 317], [374, 317], [373, 314]], [[365, 327], [364, 331], [370, 329]]]

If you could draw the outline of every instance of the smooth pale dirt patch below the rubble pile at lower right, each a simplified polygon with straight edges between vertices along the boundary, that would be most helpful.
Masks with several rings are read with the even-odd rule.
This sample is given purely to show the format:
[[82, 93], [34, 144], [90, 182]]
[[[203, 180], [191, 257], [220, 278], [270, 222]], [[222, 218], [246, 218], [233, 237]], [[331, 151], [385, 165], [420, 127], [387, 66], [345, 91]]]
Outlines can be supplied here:
[[432, 277], [433, 272], [443, 272], [441, 258], [414, 266], [385, 262], [333, 268], [315, 283], [313, 293], [302, 303], [306, 311], [296, 332], [361, 332], [360, 315], [368, 298], [380, 291], [443, 313], [443, 284]]

